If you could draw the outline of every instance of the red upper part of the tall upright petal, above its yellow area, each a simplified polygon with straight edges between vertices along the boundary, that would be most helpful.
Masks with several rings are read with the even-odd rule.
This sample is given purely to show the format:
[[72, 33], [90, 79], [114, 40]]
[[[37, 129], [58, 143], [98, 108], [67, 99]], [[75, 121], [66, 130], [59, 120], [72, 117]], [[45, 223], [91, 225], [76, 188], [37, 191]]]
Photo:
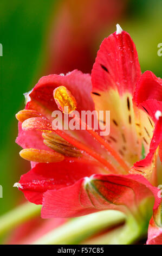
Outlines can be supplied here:
[[92, 70], [93, 90], [134, 92], [141, 76], [138, 54], [130, 35], [122, 31], [104, 39]]

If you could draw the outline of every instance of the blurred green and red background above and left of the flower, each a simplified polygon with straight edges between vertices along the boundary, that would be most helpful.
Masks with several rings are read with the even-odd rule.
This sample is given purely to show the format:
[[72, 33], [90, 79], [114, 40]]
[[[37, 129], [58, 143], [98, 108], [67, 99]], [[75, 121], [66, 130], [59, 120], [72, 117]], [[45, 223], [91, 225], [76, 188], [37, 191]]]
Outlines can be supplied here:
[[23, 193], [12, 186], [30, 169], [15, 143], [15, 114], [24, 108], [23, 93], [42, 75], [74, 68], [90, 72], [101, 41], [115, 31], [116, 23], [131, 34], [142, 72], [152, 70], [162, 77], [162, 57], [157, 55], [162, 42], [161, 9], [161, 0], [0, 2], [1, 215], [23, 202]]

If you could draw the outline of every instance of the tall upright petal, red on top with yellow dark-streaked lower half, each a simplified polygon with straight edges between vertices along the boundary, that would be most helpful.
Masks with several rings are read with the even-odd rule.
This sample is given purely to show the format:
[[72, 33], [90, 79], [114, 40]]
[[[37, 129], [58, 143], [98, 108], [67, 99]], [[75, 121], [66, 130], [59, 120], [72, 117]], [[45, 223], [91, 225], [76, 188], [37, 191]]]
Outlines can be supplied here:
[[130, 35], [115, 32], [104, 39], [92, 70], [92, 96], [97, 111], [110, 111], [111, 132], [106, 139], [130, 165], [141, 154], [132, 103], [140, 76], [138, 55]]

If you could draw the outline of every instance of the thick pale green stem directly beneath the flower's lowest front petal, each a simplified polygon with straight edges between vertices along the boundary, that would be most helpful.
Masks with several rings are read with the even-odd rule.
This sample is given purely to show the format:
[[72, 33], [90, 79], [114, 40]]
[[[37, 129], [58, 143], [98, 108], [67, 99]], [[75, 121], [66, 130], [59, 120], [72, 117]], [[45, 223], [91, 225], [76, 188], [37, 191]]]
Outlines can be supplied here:
[[76, 244], [101, 230], [121, 224], [125, 220], [126, 216], [119, 211], [96, 212], [95, 214], [74, 218], [34, 241], [34, 244]]

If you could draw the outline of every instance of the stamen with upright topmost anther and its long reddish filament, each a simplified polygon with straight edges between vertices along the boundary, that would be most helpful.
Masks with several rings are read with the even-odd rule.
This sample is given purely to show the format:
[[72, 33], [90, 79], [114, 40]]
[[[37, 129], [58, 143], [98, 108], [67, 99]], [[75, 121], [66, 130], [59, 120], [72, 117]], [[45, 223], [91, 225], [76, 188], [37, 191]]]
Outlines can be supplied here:
[[[65, 88], [65, 87], [64, 87]], [[63, 98], [64, 99], [67, 99], [68, 98], [68, 95], [69, 95], [69, 91], [67, 91], [67, 89], [64, 89], [63, 88]], [[58, 92], [60, 92], [60, 87], [57, 87], [55, 90], [54, 90], [54, 95], [55, 95], [55, 92], [58, 90]], [[66, 95], [66, 92], [68, 95]], [[71, 93], [70, 93], [71, 94]], [[60, 96], [61, 95], [61, 96]], [[72, 94], [71, 94], [72, 95]], [[61, 97], [62, 99], [62, 94], [59, 93], [59, 96]], [[55, 99], [55, 96], [54, 96], [54, 99]], [[74, 103], [73, 105], [75, 105], [75, 108], [76, 109], [76, 100], [75, 98], [72, 96], [70, 97], [70, 103], [71, 101], [74, 100]], [[67, 105], [64, 105], [64, 102], [67, 104], [67, 101], [61, 101], [61, 110], [64, 109], [64, 106], [67, 106]], [[68, 101], [69, 102], [69, 101]], [[57, 100], [56, 100], [56, 103], [57, 103]], [[69, 104], [70, 105], [70, 104]], [[72, 108], [71, 108], [72, 109]], [[73, 110], [74, 110], [73, 109]], [[73, 110], [71, 110], [70, 112], [72, 112]], [[70, 113], [69, 112], [69, 113]], [[87, 130], [88, 133], [90, 133], [90, 135], [92, 135], [96, 141], [98, 141], [101, 145], [103, 145], [105, 147], [105, 149], [108, 150], [109, 153], [111, 153], [111, 155], [114, 157], [114, 159], [116, 161], [118, 161], [118, 163], [126, 170], [128, 171], [129, 170], [129, 167], [128, 165], [125, 163], [125, 161], [122, 159], [122, 157], [111, 147], [111, 145], [109, 145], [105, 139], [103, 139], [101, 136], [98, 135], [98, 133], [96, 133], [94, 130], [90, 129], [86, 123], [83, 123], [82, 120], [80, 118], [78, 118], [76, 115], [75, 115], [75, 120], [82, 126], [82, 127], [85, 127], [85, 129]]]

